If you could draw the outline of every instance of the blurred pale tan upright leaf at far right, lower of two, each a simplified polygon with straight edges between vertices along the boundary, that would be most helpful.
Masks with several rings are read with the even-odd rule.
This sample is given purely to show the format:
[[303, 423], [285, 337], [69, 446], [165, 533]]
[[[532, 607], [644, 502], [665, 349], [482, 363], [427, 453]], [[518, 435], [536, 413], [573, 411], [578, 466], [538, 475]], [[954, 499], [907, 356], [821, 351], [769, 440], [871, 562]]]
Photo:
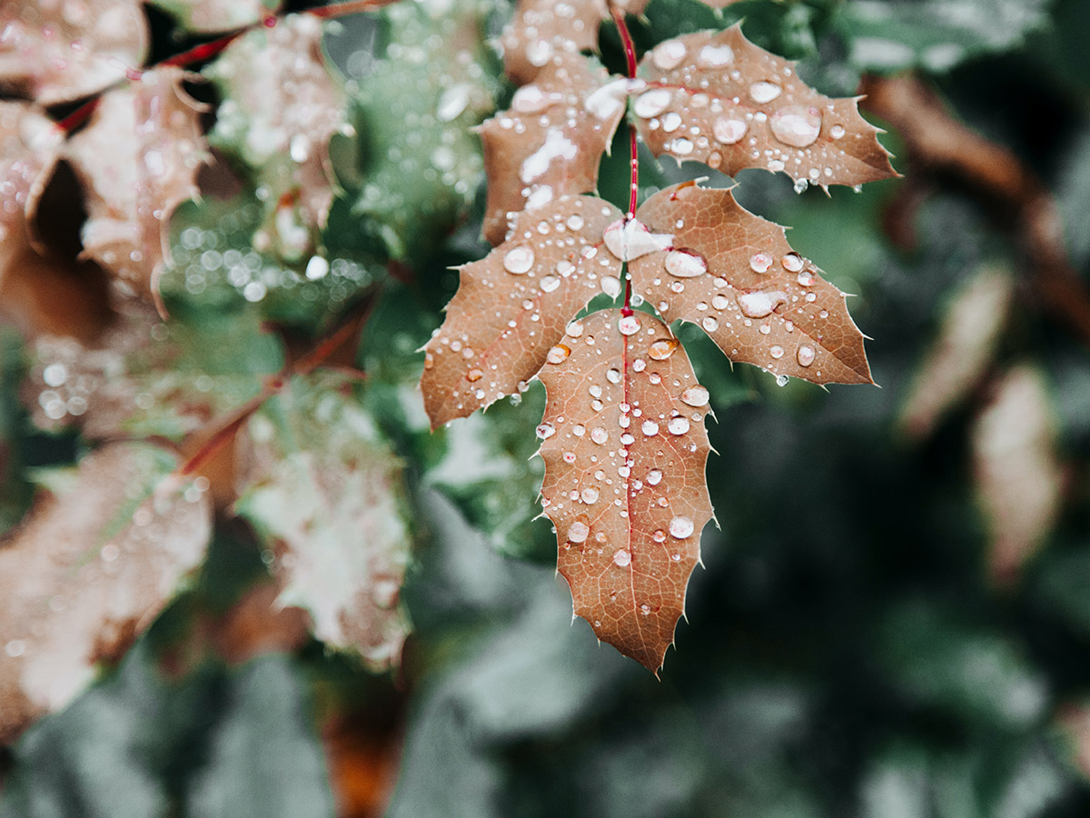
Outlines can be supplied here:
[[1022, 365], [1004, 375], [977, 418], [972, 459], [989, 570], [1009, 581], [1052, 531], [1062, 501], [1055, 410], [1040, 371]]

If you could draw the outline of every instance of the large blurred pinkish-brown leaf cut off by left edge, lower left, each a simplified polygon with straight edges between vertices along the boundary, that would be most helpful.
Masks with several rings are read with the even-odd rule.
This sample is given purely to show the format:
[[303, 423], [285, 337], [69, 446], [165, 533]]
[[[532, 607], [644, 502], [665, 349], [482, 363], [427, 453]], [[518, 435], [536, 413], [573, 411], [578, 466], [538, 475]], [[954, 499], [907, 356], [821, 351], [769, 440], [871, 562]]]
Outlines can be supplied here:
[[141, 444], [98, 449], [0, 548], [0, 742], [64, 707], [204, 560], [211, 506], [160, 480], [171, 462]]

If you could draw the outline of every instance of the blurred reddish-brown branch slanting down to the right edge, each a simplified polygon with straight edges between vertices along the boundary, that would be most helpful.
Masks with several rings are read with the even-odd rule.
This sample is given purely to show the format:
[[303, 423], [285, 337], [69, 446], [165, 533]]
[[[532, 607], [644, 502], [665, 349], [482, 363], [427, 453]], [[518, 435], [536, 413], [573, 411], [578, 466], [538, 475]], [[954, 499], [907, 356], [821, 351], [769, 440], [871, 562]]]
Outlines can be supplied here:
[[1013, 218], [1043, 305], [1090, 347], [1090, 292], [1067, 257], [1055, 199], [1037, 175], [1014, 152], [958, 122], [918, 77], [871, 76], [862, 93], [864, 107], [900, 133], [910, 159], [957, 178]]

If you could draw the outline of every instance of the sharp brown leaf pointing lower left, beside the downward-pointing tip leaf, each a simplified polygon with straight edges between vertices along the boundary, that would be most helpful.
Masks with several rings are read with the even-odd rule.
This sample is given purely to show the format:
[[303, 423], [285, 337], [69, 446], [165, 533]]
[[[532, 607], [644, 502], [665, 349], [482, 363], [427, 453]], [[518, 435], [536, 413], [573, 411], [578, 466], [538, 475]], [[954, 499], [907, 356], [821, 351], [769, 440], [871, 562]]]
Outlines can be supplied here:
[[421, 388], [433, 429], [516, 393], [573, 315], [600, 292], [620, 292], [620, 262], [602, 241], [620, 216], [594, 196], [523, 210], [508, 241], [462, 267], [447, 317], [425, 348]]

